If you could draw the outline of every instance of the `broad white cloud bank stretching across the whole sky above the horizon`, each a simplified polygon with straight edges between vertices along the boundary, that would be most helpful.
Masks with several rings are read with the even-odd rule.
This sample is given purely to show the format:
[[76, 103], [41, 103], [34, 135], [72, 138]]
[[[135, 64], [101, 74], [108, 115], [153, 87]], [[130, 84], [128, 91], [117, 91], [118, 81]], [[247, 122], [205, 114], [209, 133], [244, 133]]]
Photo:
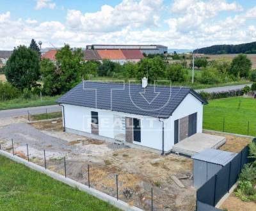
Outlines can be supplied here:
[[[247, 26], [246, 20], [254, 17], [256, 9], [241, 14], [241, 6], [230, 1], [177, 2], [172, 4], [175, 15], [165, 14], [169, 17], [166, 20], [161, 20], [166, 12], [161, 0], [124, 0], [116, 6], [103, 5], [93, 13], [68, 10], [64, 23], [38, 22], [32, 17], [13, 20], [10, 12], [0, 13], [0, 49], [29, 45], [32, 38], [42, 41], [42, 47], [51, 47], [51, 43], [56, 47], [64, 43], [72, 47], [91, 43], [159, 43], [186, 49], [255, 41], [256, 26]], [[214, 19], [221, 11], [237, 12]]]

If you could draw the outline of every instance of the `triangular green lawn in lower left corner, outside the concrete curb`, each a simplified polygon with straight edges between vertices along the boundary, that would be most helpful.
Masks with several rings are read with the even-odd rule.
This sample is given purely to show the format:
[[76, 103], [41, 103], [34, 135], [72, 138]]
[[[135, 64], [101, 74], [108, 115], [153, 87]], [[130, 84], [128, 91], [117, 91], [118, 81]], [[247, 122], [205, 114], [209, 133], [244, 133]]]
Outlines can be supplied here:
[[0, 210], [118, 210], [0, 156]]

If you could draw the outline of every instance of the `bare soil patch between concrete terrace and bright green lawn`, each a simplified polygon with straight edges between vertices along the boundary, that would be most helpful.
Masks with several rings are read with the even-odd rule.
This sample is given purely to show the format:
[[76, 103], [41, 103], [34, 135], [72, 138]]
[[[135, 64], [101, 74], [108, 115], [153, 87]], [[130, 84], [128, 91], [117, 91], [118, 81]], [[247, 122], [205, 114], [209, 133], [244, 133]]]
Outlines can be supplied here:
[[228, 152], [240, 152], [243, 148], [252, 142], [252, 139], [248, 137], [241, 137], [241, 136], [233, 136], [228, 135], [222, 132], [207, 132], [212, 135], [217, 136], [225, 136], [226, 143], [225, 145], [220, 147], [220, 150], [228, 151]]

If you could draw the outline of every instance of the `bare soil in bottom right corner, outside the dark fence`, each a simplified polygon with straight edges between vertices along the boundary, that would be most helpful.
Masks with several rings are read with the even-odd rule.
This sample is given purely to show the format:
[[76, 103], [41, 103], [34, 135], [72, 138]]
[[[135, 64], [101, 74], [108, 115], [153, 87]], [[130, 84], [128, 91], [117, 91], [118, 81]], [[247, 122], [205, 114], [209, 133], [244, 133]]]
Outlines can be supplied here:
[[227, 209], [228, 211], [256, 211], [256, 203], [253, 201], [245, 202], [231, 194], [226, 201], [221, 205], [221, 208]]

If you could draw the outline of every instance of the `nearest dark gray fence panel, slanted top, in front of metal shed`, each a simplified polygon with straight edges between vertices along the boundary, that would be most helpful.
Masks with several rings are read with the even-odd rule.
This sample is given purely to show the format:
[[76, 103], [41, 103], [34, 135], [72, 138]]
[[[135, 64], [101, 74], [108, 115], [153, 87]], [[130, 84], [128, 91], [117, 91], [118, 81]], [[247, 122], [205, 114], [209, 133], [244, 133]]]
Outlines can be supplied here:
[[208, 205], [214, 206], [214, 190], [215, 190], [215, 176], [212, 176], [198, 191], [196, 192], [196, 199], [203, 201]]

